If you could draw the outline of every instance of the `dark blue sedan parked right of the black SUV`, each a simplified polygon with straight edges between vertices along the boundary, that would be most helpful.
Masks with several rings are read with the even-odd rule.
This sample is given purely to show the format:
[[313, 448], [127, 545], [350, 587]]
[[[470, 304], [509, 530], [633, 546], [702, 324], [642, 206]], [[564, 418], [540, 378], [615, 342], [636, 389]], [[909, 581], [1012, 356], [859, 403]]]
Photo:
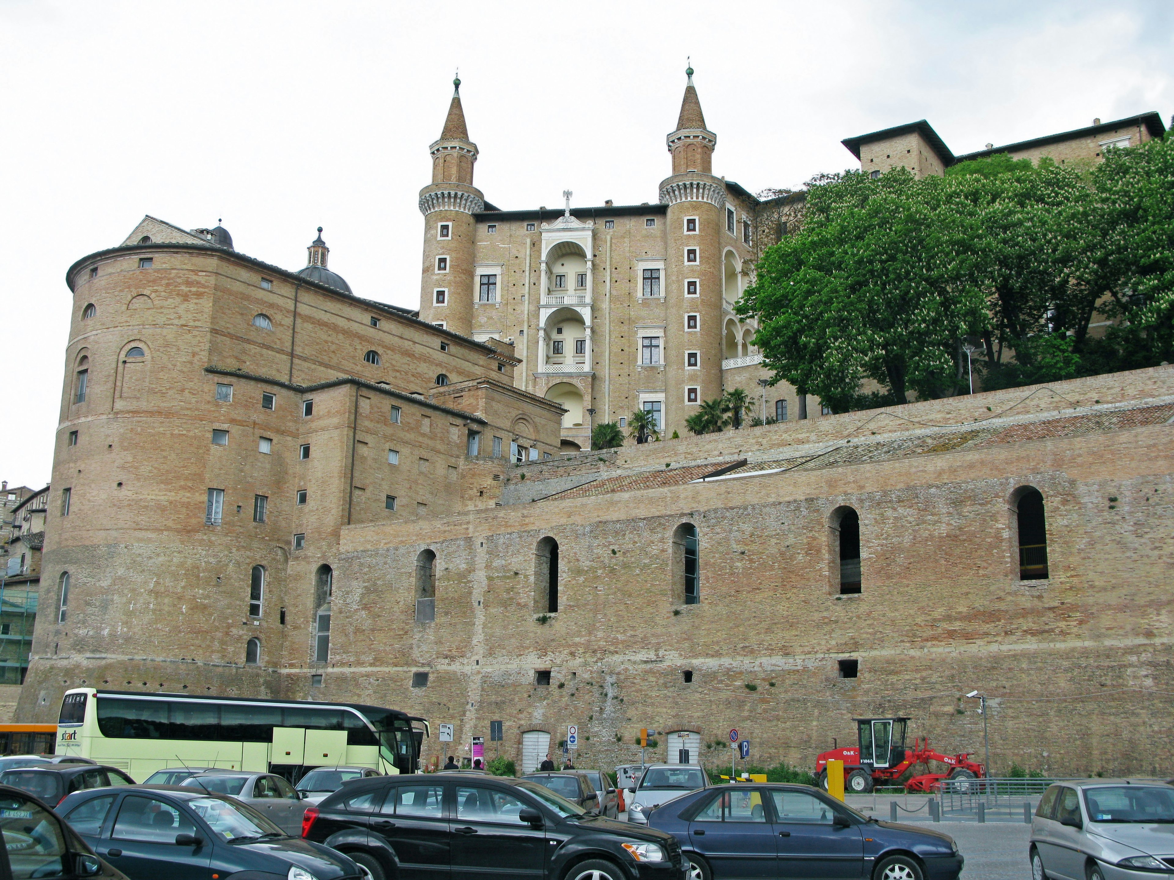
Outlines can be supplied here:
[[648, 813], [689, 860], [690, 880], [957, 880], [949, 834], [883, 823], [807, 785], [720, 785]]

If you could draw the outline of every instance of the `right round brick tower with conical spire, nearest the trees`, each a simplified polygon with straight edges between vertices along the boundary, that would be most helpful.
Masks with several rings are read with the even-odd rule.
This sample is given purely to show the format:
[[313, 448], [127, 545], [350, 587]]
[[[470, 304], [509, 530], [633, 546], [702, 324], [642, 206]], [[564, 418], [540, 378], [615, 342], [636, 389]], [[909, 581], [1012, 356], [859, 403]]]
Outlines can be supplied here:
[[668, 136], [673, 176], [661, 181], [668, 205], [664, 427], [684, 433], [703, 400], [722, 393], [721, 224], [726, 187], [714, 177], [717, 136], [706, 128], [693, 68], [676, 130]]

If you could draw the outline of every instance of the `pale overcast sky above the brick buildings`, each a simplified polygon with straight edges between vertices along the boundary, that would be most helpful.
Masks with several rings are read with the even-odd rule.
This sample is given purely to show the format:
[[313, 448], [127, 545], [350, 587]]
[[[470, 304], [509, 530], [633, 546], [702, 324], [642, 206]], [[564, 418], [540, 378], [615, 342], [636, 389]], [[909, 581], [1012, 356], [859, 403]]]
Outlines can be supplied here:
[[429, 144], [459, 66], [504, 209], [656, 201], [686, 57], [714, 174], [750, 191], [927, 119], [954, 153], [1174, 111], [1174, 4], [0, 0], [0, 478], [49, 479], [65, 272], [144, 214], [223, 217], [296, 270], [322, 225], [355, 292], [418, 307]]

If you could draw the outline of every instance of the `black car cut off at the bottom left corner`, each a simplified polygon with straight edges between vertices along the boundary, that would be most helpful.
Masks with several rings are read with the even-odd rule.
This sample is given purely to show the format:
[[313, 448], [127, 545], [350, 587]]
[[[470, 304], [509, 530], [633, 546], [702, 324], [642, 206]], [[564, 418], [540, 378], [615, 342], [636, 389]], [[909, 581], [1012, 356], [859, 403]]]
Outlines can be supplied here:
[[0, 786], [0, 880], [128, 880], [73, 832], [45, 801]]

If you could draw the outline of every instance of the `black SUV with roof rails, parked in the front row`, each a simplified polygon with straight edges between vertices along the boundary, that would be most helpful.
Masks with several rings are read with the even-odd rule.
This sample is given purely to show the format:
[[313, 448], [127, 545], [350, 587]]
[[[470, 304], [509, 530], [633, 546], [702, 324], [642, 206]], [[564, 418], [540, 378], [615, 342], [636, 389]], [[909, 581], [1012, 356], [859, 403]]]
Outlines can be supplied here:
[[356, 779], [305, 811], [302, 835], [372, 880], [686, 880], [672, 834], [589, 815], [525, 779], [474, 773]]

